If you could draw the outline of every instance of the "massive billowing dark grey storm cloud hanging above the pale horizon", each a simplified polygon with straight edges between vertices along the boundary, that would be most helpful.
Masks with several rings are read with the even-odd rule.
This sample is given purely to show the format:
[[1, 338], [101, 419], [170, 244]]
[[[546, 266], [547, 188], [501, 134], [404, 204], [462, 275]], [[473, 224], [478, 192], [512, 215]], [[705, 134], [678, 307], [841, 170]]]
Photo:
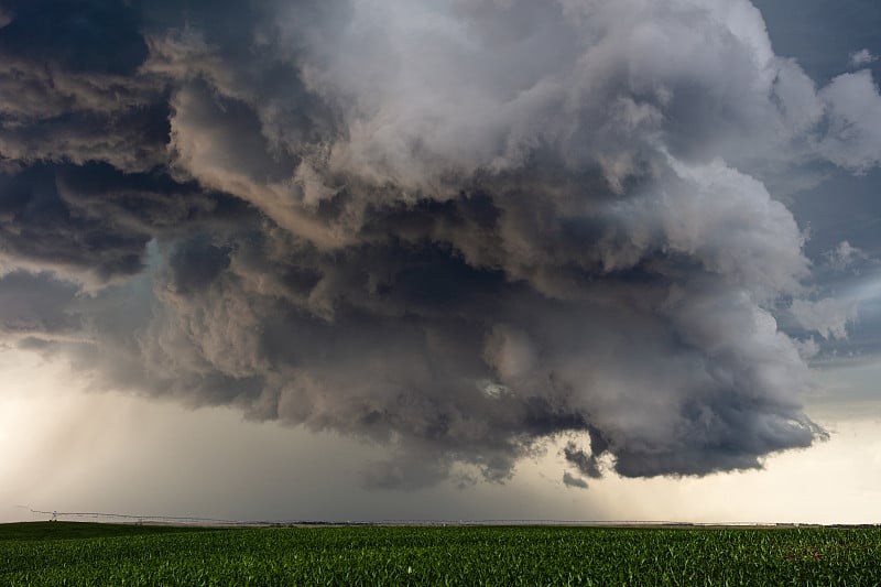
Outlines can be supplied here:
[[881, 96], [817, 89], [746, 0], [85, 2], [40, 47], [30, 7], [0, 29], [11, 340], [387, 445], [378, 488], [562, 434], [591, 478], [825, 436], [774, 316], [844, 323], [766, 182], [877, 166]]

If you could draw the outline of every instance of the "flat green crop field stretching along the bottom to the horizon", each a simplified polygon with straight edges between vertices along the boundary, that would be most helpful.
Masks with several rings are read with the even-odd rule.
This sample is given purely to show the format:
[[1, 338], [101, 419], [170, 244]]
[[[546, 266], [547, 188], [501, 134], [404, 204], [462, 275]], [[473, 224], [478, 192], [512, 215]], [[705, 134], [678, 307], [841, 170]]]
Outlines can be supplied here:
[[881, 529], [34, 522], [0, 585], [881, 585]]

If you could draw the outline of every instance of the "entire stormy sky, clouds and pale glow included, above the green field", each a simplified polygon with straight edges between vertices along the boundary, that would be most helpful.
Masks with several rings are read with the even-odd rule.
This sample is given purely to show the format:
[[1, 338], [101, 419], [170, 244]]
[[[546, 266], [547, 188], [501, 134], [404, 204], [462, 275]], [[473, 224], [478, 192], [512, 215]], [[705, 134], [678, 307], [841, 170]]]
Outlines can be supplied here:
[[879, 26], [0, 0], [0, 521], [881, 521]]

